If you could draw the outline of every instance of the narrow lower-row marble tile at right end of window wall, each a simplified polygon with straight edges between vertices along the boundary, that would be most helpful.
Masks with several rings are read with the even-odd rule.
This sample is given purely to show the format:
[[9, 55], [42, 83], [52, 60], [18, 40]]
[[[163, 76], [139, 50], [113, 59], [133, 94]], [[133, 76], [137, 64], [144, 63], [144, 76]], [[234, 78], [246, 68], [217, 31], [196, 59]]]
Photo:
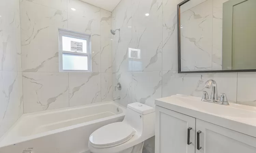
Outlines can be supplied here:
[[101, 101], [112, 100], [112, 73], [101, 73]]

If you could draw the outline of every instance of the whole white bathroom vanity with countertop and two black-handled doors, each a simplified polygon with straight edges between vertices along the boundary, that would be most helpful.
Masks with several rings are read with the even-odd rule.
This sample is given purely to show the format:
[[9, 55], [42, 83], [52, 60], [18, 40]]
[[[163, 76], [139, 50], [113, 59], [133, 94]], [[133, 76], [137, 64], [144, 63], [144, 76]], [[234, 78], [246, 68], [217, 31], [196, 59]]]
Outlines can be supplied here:
[[256, 107], [184, 95], [155, 104], [155, 153], [256, 153]]

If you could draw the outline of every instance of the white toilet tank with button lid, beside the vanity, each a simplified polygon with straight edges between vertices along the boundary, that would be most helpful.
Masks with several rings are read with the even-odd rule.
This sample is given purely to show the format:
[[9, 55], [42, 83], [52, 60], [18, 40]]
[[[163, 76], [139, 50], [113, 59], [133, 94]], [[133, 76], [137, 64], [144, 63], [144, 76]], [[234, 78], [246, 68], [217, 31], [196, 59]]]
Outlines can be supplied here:
[[128, 104], [123, 122], [150, 138], [155, 135], [155, 108], [138, 102]]

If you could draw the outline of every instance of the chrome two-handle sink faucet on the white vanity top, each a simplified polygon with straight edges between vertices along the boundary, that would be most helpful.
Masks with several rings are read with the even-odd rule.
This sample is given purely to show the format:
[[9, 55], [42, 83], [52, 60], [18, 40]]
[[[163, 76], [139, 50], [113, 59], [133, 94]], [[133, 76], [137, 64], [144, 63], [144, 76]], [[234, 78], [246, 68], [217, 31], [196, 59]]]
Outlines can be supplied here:
[[206, 91], [201, 91], [201, 92], [203, 92], [202, 101], [216, 103], [216, 104], [222, 104], [222, 105], [229, 105], [226, 94], [223, 94], [223, 93], [219, 94], [221, 96], [221, 99], [218, 100], [217, 83], [214, 80], [208, 80], [207, 82], [205, 82], [204, 87], [212, 88], [212, 93], [211, 93], [211, 97], [209, 99], [208, 93]]

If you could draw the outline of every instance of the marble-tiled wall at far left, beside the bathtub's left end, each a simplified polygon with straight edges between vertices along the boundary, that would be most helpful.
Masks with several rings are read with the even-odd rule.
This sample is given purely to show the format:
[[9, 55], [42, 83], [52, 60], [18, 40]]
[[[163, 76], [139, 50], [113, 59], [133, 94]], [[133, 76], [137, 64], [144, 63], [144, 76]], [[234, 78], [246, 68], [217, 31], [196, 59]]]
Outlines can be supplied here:
[[19, 1], [0, 1], [0, 137], [23, 114]]

